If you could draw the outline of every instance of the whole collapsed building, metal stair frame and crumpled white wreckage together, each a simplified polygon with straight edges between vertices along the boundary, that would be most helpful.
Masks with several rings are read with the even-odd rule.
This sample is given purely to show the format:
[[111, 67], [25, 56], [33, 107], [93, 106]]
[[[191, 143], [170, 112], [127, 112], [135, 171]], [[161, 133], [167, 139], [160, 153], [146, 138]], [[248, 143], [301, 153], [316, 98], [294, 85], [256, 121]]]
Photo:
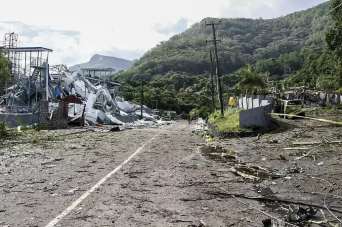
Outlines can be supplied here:
[[82, 104], [68, 103], [70, 123], [80, 119], [88, 125], [164, 123], [147, 106], [129, 103], [119, 96], [120, 84], [110, 78], [114, 69], [81, 68], [76, 72], [65, 65], [50, 66], [49, 53], [53, 50], [17, 47], [16, 43], [17, 35], [12, 32], [5, 35], [3, 46], [0, 45], [10, 62], [11, 77], [11, 82], [0, 90], [0, 120], [16, 116], [26, 124], [38, 123], [35, 115], [39, 112], [40, 101], [49, 102], [53, 115], [60, 104], [56, 100], [73, 95]]

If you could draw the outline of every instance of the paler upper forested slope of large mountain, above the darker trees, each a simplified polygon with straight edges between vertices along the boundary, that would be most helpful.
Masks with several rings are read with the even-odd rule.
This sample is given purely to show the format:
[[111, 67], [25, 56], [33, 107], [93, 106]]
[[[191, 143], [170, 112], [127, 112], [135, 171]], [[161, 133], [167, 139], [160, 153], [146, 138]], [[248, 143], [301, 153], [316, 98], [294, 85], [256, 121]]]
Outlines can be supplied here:
[[[321, 49], [324, 32], [332, 26], [330, 17], [325, 15], [329, 4], [325, 2], [275, 19], [205, 18], [145, 53], [131, 68], [119, 74], [120, 78], [136, 79], [143, 75], [150, 81], [169, 71], [193, 76], [205, 74], [209, 69], [209, 54], [203, 50], [206, 39], [212, 39], [211, 27], [205, 26], [205, 21], [222, 21], [222, 25], [216, 27], [217, 38], [222, 39], [218, 44], [221, 74], [232, 73], [261, 56], [278, 58], [303, 48]], [[272, 72], [275, 79], [281, 79], [289, 70], [301, 68], [297, 64], [290, 67], [282, 70], [277, 67], [276, 72]]]

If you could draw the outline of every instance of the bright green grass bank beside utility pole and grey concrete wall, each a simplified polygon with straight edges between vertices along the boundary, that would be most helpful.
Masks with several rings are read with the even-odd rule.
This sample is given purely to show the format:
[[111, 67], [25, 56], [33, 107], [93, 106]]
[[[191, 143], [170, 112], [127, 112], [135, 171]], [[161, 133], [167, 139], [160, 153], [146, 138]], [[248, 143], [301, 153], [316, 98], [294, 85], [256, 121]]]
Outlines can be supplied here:
[[245, 109], [238, 109], [237, 114], [235, 114], [236, 109], [231, 109], [228, 116], [228, 110], [224, 111], [224, 117], [221, 117], [220, 111], [216, 111], [215, 116], [211, 114], [209, 116], [209, 121], [213, 123], [219, 131], [249, 131], [250, 129], [241, 128], [239, 126], [239, 112]]

